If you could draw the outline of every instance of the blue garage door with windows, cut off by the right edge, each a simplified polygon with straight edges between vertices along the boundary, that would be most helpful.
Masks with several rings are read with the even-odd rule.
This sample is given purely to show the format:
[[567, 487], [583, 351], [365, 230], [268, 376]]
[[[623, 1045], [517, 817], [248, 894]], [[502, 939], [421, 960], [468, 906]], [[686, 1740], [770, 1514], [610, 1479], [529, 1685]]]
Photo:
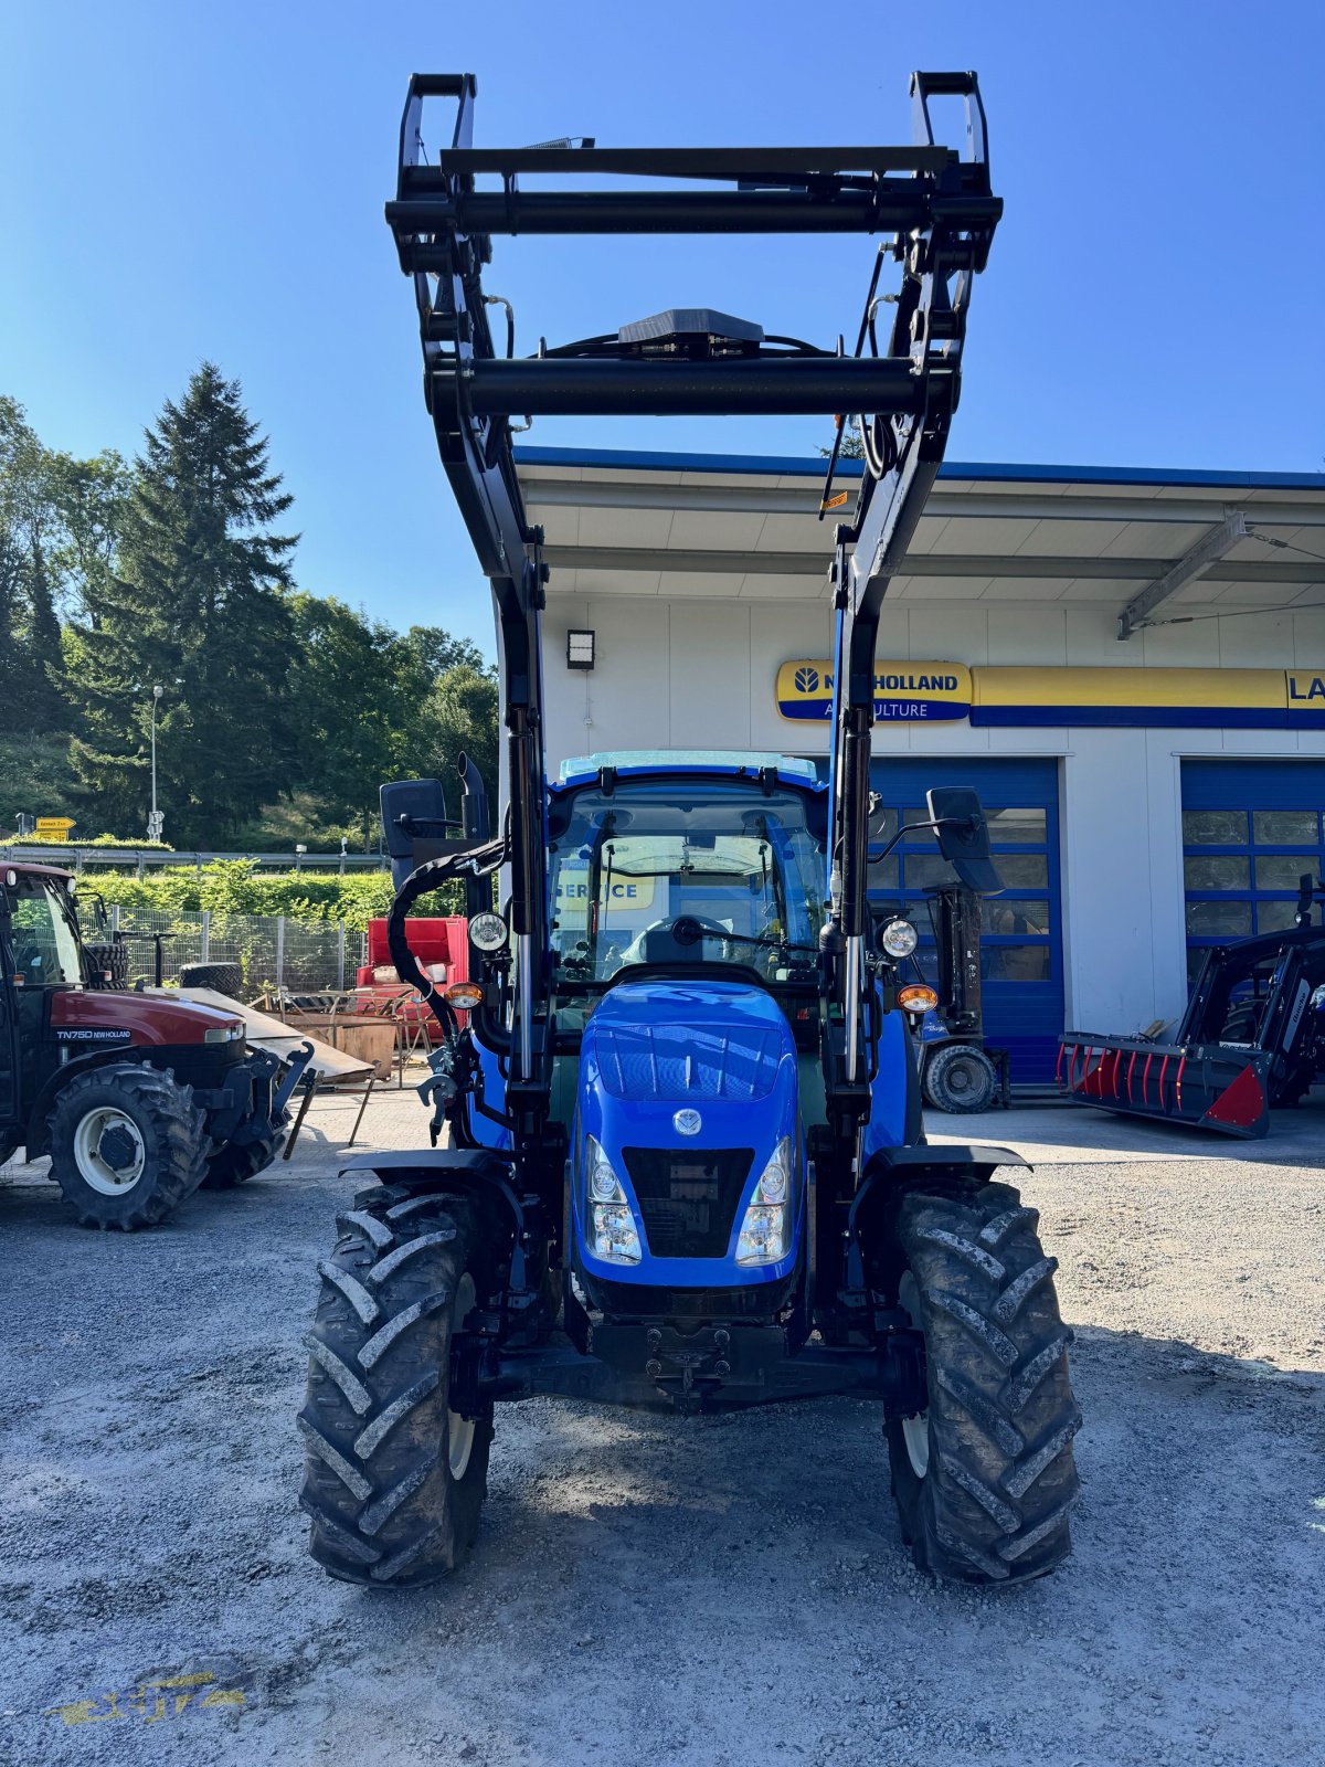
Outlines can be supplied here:
[[1325, 868], [1325, 762], [1184, 762], [1187, 972], [1210, 945], [1293, 924], [1297, 880]]

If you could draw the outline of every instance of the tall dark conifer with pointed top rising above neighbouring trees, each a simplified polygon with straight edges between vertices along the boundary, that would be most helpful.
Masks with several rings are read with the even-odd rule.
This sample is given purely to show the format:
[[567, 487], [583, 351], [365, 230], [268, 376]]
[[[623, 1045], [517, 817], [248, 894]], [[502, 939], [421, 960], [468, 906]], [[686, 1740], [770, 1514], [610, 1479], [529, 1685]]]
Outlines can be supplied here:
[[221, 845], [290, 783], [292, 498], [237, 380], [203, 362], [147, 429], [118, 567], [85, 587], [67, 634], [83, 701], [74, 767], [95, 820], [141, 825], [157, 800], [175, 845]]

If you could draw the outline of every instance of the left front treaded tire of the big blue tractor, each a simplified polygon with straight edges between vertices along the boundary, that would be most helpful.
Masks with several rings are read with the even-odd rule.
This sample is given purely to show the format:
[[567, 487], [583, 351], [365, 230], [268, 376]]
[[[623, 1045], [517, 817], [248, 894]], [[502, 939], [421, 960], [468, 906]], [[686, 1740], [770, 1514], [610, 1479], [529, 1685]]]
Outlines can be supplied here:
[[454, 1200], [399, 1189], [357, 1196], [337, 1226], [307, 1338], [299, 1502], [313, 1518], [309, 1550], [332, 1576], [413, 1589], [465, 1562], [488, 1495], [491, 1412], [473, 1422], [456, 1474], [447, 1407], [473, 1228]]

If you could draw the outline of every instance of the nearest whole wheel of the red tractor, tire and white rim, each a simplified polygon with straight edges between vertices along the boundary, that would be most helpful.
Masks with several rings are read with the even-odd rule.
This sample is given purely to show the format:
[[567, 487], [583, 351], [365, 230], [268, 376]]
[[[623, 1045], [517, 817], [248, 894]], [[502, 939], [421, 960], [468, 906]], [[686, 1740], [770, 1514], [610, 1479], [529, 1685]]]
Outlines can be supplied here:
[[170, 1069], [115, 1062], [71, 1080], [49, 1119], [51, 1177], [80, 1226], [155, 1226], [207, 1172], [207, 1117]]

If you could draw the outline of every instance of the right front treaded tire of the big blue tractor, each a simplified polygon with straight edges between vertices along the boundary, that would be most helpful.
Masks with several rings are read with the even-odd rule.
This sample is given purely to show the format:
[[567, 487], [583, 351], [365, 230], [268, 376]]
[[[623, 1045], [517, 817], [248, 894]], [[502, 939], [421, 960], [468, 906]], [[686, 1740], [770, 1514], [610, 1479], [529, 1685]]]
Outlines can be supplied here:
[[[892, 1495], [917, 1566], [966, 1583], [1044, 1576], [1067, 1558], [1081, 1414], [1072, 1339], [1034, 1209], [1007, 1184], [913, 1193], [894, 1217], [890, 1299], [924, 1329], [928, 1422], [887, 1424]], [[908, 1283], [910, 1272], [910, 1283]], [[919, 1316], [917, 1316], [919, 1315]], [[917, 1470], [913, 1454], [928, 1461]]]

